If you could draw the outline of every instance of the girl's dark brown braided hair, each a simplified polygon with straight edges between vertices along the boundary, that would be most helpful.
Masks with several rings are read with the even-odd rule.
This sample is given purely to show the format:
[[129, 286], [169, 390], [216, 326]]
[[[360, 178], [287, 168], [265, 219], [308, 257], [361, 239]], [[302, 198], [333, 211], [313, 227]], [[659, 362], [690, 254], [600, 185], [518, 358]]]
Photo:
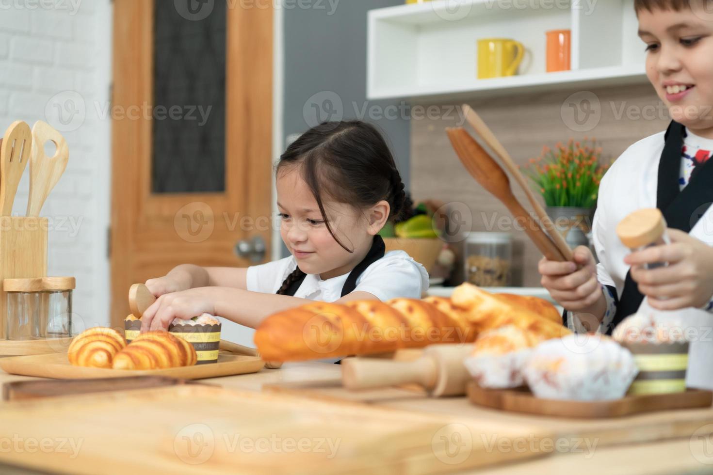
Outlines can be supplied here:
[[[366, 209], [381, 200], [389, 202], [389, 219], [406, 212], [406, 193], [401, 174], [389, 146], [374, 125], [360, 120], [322, 122], [304, 132], [279, 157], [276, 174], [285, 167], [299, 166], [302, 179], [317, 201], [329, 234], [349, 252], [334, 235], [324, 212], [322, 197]], [[297, 267], [277, 293], [284, 293], [304, 273]]]

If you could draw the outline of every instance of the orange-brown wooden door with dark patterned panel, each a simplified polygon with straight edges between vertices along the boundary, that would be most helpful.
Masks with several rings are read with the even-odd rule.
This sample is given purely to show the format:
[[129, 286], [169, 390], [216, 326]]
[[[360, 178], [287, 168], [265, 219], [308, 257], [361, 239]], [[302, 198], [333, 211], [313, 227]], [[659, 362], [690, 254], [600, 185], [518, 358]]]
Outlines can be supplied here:
[[112, 326], [132, 283], [270, 256], [272, 9], [185, 3], [114, 1]]

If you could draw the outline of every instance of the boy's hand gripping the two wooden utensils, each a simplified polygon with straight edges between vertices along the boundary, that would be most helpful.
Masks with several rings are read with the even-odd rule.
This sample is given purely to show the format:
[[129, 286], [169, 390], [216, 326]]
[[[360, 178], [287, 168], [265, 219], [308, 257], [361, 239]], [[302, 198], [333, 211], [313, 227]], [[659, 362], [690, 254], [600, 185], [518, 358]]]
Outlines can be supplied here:
[[597, 281], [597, 263], [587, 246], [578, 246], [573, 257], [574, 262], [550, 261], [545, 257], [540, 259], [540, 283], [560, 306], [570, 312], [593, 310], [597, 301], [603, 298], [602, 288]]

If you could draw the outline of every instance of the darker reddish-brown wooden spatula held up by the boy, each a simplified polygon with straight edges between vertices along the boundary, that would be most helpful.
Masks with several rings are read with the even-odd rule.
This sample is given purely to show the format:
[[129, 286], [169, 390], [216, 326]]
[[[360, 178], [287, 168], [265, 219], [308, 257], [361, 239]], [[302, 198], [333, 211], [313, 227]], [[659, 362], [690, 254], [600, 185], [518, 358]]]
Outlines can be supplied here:
[[488, 155], [483, 147], [471, 137], [463, 127], [447, 128], [448, 138], [451, 140], [456, 155], [466, 167], [468, 172], [499, 199], [510, 210], [515, 220], [523, 220], [525, 232], [540, 249], [542, 254], [550, 261], [565, 261], [560, 250], [555, 246], [550, 236], [545, 234], [540, 224], [522, 207], [510, 189], [510, 180], [503, 169]]

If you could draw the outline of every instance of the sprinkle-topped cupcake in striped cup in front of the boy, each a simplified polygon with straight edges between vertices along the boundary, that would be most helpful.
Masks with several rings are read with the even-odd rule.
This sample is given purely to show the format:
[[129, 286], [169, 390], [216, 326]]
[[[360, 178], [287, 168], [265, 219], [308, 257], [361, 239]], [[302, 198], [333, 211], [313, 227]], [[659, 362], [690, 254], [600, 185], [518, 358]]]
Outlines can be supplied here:
[[612, 334], [634, 354], [639, 375], [629, 394], [665, 394], [686, 390], [689, 342], [677, 318], [656, 313], [635, 313]]

